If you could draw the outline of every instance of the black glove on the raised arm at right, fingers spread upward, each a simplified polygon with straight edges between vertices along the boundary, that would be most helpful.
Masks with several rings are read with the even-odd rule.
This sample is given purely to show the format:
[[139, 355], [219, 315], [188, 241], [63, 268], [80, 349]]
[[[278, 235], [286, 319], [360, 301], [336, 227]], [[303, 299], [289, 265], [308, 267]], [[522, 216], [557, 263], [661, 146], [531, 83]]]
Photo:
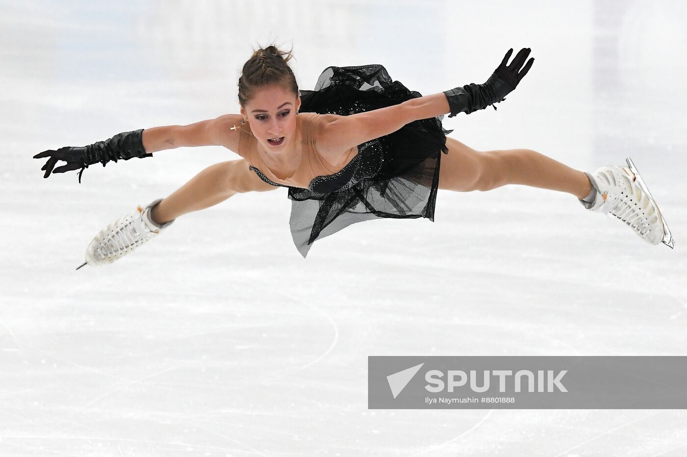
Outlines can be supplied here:
[[449, 117], [458, 113], [470, 114], [473, 111], [483, 110], [489, 105], [504, 101], [504, 97], [514, 91], [520, 80], [530, 71], [534, 58], [530, 58], [527, 65], [522, 67], [530, 55], [530, 51], [531, 49], [528, 47], [520, 49], [513, 62], [506, 66], [510, 55], [513, 54], [513, 48], [510, 48], [501, 65], [495, 69], [484, 84], [467, 84], [450, 91], [444, 91], [449, 100], [449, 108], [451, 108]]

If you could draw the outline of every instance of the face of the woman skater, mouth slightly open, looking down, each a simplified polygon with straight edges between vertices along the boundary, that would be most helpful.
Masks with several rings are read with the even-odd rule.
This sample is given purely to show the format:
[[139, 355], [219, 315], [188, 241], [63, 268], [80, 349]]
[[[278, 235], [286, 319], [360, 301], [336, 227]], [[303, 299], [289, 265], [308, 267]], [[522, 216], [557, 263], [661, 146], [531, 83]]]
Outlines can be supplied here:
[[[281, 86], [271, 84], [256, 91], [241, 114], [248, 118], [251, 131], [265, 150], [279, 154], [291, 150], [296, 128], [296, 110], [300, 108], [300, 97]], [[282, 138], [280, 143], [270, 139]]]

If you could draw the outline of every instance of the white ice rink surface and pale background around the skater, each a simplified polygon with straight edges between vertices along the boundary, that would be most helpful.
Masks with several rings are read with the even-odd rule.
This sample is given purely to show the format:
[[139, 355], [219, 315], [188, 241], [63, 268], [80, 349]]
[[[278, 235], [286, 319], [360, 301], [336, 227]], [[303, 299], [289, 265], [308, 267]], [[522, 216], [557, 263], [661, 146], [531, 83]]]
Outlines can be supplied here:
[[[368, 355], [686, 355], [682, 1], [0, 1], [0, 456], [687, 455], [684, 410], [368, 410]], [[43, 178], [38, 152], [238, 113], [251, 45], [300, 89], [376, 63], [423, 95], [532, 69], [444, 117], [476, 150], [576, 169], [631, 157], [675, 249], [570, 194], [440, 190], [435, 222], [297, 252], [286, 188], [179, 218], [75, 271], [106, 224], [221, 147]]]

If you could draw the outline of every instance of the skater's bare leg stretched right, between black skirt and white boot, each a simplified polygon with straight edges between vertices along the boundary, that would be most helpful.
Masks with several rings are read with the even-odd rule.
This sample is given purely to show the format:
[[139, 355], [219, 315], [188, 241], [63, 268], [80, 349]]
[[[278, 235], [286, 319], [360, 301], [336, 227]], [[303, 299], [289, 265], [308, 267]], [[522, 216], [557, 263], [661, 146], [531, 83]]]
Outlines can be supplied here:
[[567, 192], [585, 198], [592, 183], [584, 172], [529, 149], [478, 152], [447, 138], [449, 154], [442, 155], [439, 189], [488, 191], [520, 184]]

